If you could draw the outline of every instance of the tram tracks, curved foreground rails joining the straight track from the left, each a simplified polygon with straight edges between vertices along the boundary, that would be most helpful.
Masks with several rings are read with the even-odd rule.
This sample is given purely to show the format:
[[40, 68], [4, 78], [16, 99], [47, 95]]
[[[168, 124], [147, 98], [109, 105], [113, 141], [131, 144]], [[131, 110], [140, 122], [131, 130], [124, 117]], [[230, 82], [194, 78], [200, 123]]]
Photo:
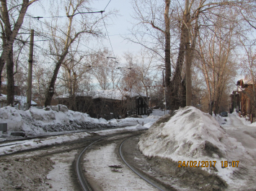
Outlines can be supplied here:
[[[51, 146], [43, 146], [41, 148], [36, 148], [36, 149], [29, 149], [29, 150], [25, 150], [25, 151], [20, 151], [20, 152], [16, 152], [13, 154], [6, 154], [6, 155], [2, 155], [1, 157], [14, 157], [17, 156], [17, 158], [19, 158], [19, 156], [31, 156], [31, 157], [48, 157], [48, 156], [53, 156], [54, 154], [61, 154], [61, 153], [65, 153], [65, 152], [70, 152], [72, 150], [78, 150], [81, 149], [80, 152], [78, 152], [78, 155], [75, 159], [75, 163], [74, 163], [74, 169], [73, 172], [76, 173], [77, 180], [79, 180], [79, 183], [81, 185], [81, 190], [95, 190], [92, 187], [90, 187], [89, 185], [89, 181], [86, 179], [86, 176], [84, 174], [84, 170], [83, 170], [83, 162], [84, 162], [84, 154], [92, 147], [95, 145], [100, 145], [100, 146], [104, 146], [107, 144], [111, 144], [112, 141], [117, 141], [118, 142], [118, 147], [119, 147], [119, 155], [120, 158], [123, 159], [123, 162], [136, 174], [138, 174], [139, 177], [141, 177], [143, 180], [145, 180], [146, 182], [148, 182], [149, 184], [153, 185], [154, 187], [156, 187], [159, 190], [162, 190], [161, 187], [159, 187], [157, 184], [154, 183], [154, 181], [152, 182], [149, 178], [147, 178], [146, 176], [144, 176], [144, 174], [141, 174], [138, 170], [136, 170], [136, 168], [132, 167], [131, 164], [129, 164], [129, 159], [125, 159], [125, 156], [123, 154], [124, 152], [124, 148], [123, 145], [125, 144], [125, 141], [128, 140], [129, 138], [131, 138], [132, 136], [135, 136], [134, 134], [138, 135], [141, 134], [140, 132], [122, 132], [122, 133], [118, 133], [118, 134], [112, 134], [110, 136], [94, 136], [94, 137], [87, 137], [84, 139], [80, 139], [77, 141], [70, 141], [70, 142], [65, 142], [62, 144], [56, 144], [56, 145], [51, 145]], [[9, 143], [9, 144], [16, 144], [15, 142], [13, 143]], [[10, 156], [12, 155], [12, 156]], [[13, 158], [13, 159], [14, 159]], [[126, 169], [127, 170], [127, 169]], [[131, 172], [130, 172], [131, 173]], [[74, 180], [74, 182], [76, 182], [76, 180]]]

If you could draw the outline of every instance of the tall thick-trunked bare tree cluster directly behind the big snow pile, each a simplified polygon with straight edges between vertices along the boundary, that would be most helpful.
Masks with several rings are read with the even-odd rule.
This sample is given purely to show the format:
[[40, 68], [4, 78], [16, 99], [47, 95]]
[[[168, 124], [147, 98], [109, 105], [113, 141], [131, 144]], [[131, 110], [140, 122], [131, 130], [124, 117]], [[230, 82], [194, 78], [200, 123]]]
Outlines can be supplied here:
[[[135, 39], [131, 39], [131, 41], [149, 48], [164, 60], [166, 67], [165, 83], [168, 86], [167, 92], [169, 94], [168, 104], [173, 109], [191, 105], [191, 65], [200, 29], [200, 24], [198, 23], [203, 22], [205, 19], [208, 20], [208, 16], [211, 14], [215, 15], [214, 10], [216, 8], [228, 7], [234, 4], [238, 4], [238, 2], [186, 0], [185, 3], [175, 1], [170, 4], [170, 1], [166, 0], [161, 4], [159, 1], [154, 0], [133, 1], [136, 13], [135, 19], [138, 20], [137, 25], [142, 29], [146, 29], [146, 31], [140, 30], [142, 33], [141, 39], [136, 35]], [[181, 9], [181, 7], [184, 7], [184, 9]], [[148, 26], [156, 29], [158, 33], [151, 31]], [[177, 48], [177, 61], [173, 65], [175, 71], [171, 81], [169, 60], [172, 58], [170, 55], [174, 55], [174, 53], [170, 51], [171, 46], [169, 44], [170, 42], [173, 43], [174, 40], [170, 39], [170, 32], [175, 35], [175, 38], [180, 38], [180, 45]], [[151, 40], [151, 43], [149, 43], [149, 39], [145, 39], [145, 36], [150, 36], [151, 39], [155, 40]], [[172, 47], [174, 46], [172, 45]], [[164, 51], [164, 56], [161, 51]], [[183, 63], [185, 63], [186, 68], [183, 74], [184, 78], [182, 78]]]

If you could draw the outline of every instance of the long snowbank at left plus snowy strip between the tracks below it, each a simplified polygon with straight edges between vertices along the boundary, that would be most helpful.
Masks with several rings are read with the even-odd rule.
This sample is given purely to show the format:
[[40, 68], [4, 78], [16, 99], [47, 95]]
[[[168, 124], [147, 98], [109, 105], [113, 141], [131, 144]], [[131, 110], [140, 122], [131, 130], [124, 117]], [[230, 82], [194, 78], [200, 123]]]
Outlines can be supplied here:
[[[154, 116], [155, 114], [159, 116]], [[14, 141], [11, 144], [1, 144], [0, 155], [10, 154], [22, 150], [39, 148], [41, 146], [61, 144], [66, 141], [90, 136], [85, 129], [97, 129], [101, 127], [122, 126], [119, 129], [107, 129], [97, 131], [97, 134], [107, 135], [118, 131], [137, 131], [148, 129], [151, 124], [164, 115], [164, 111], [156, 110], [151, 116], [144, 118], [123, 118], [106, 121], [104, 118], [91, 118], [87, 113], [75, 111], [45, 111], [43, 109], [30, 108], [28, 111], [18, 110], [17, 108], [0, 108], [0, 123], [7, 123], [7, 133], [0, 131], [0, 141], [17, 139], [11, 136], [13, 131], [24, 131], [27, 136], [49, 136], [48, 138], [31, 139], [25, 141]], [[66, 131], [65, 131], [66, 130]], [[67, 131], [69, 130], [69, 131]], [[58, 136], [51, 136], [51, 135]]]

